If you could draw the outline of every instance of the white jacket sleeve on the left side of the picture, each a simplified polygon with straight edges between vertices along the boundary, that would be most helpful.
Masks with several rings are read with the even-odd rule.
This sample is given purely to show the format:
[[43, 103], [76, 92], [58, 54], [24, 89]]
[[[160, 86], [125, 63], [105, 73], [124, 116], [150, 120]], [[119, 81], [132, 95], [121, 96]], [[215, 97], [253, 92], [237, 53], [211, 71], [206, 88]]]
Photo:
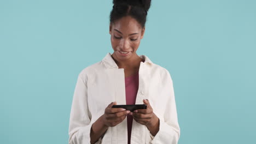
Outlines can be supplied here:
[[[91, 125], [91, 113], [88, 109], [87, 83], [84, 82], [82, 75], [79, 74], [69, 118], [68, 143], [90, 143]], [[96, 143], [101, 143], [101, 138]]]

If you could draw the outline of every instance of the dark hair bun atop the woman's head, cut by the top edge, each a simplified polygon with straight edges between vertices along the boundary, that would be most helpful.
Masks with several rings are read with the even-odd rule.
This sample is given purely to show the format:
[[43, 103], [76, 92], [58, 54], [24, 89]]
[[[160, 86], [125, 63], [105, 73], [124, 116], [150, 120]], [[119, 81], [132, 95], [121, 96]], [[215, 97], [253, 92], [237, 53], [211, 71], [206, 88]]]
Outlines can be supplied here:
[[113, 0], [114, 5], [128, 4], [128, 5], [141, 7], [146, 11], [148, 11], [148, 9], [150, 8], [150, 3], [151, 3], [151, 0]]

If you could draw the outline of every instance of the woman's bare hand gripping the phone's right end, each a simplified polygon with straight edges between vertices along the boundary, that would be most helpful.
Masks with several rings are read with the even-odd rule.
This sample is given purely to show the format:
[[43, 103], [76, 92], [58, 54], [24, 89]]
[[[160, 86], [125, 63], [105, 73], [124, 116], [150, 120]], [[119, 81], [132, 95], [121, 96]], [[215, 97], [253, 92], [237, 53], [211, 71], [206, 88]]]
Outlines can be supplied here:
[[159, 118], [153, 112], [148, 99], [144, 99], [143, 103], [147, 105], [147, 109], [135, 110], [129, 115], [132, 115], [137, 123], [146, 125], [150, 133], [155, 136], [159, 131]]

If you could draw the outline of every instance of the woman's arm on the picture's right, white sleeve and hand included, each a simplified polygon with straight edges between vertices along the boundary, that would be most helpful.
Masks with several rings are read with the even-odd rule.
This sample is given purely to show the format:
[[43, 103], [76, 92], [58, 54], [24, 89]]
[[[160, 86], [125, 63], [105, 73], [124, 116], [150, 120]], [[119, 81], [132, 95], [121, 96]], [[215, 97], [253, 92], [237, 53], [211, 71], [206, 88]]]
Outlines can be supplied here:
[[153, 112], [153, 108], [149, 104], [148, 100], [143, 100], [143, 103], [148, 107], [143, 110], [135, 110], [131, 112], [131, 115], [136, 122], [146, 125], [150, 131], [152, 140], [150, 143], [170, 143], [177, 144], [180, 129], [178, 124], [176, 103], [174, 98], [174, 91], [172, 85], [172, 79], [168, 71], [164, 71], [162, 74], [161, 94], [162, 98], [165, 98], [162, 105], [165, 107], [163, 111], [164, 115]]

